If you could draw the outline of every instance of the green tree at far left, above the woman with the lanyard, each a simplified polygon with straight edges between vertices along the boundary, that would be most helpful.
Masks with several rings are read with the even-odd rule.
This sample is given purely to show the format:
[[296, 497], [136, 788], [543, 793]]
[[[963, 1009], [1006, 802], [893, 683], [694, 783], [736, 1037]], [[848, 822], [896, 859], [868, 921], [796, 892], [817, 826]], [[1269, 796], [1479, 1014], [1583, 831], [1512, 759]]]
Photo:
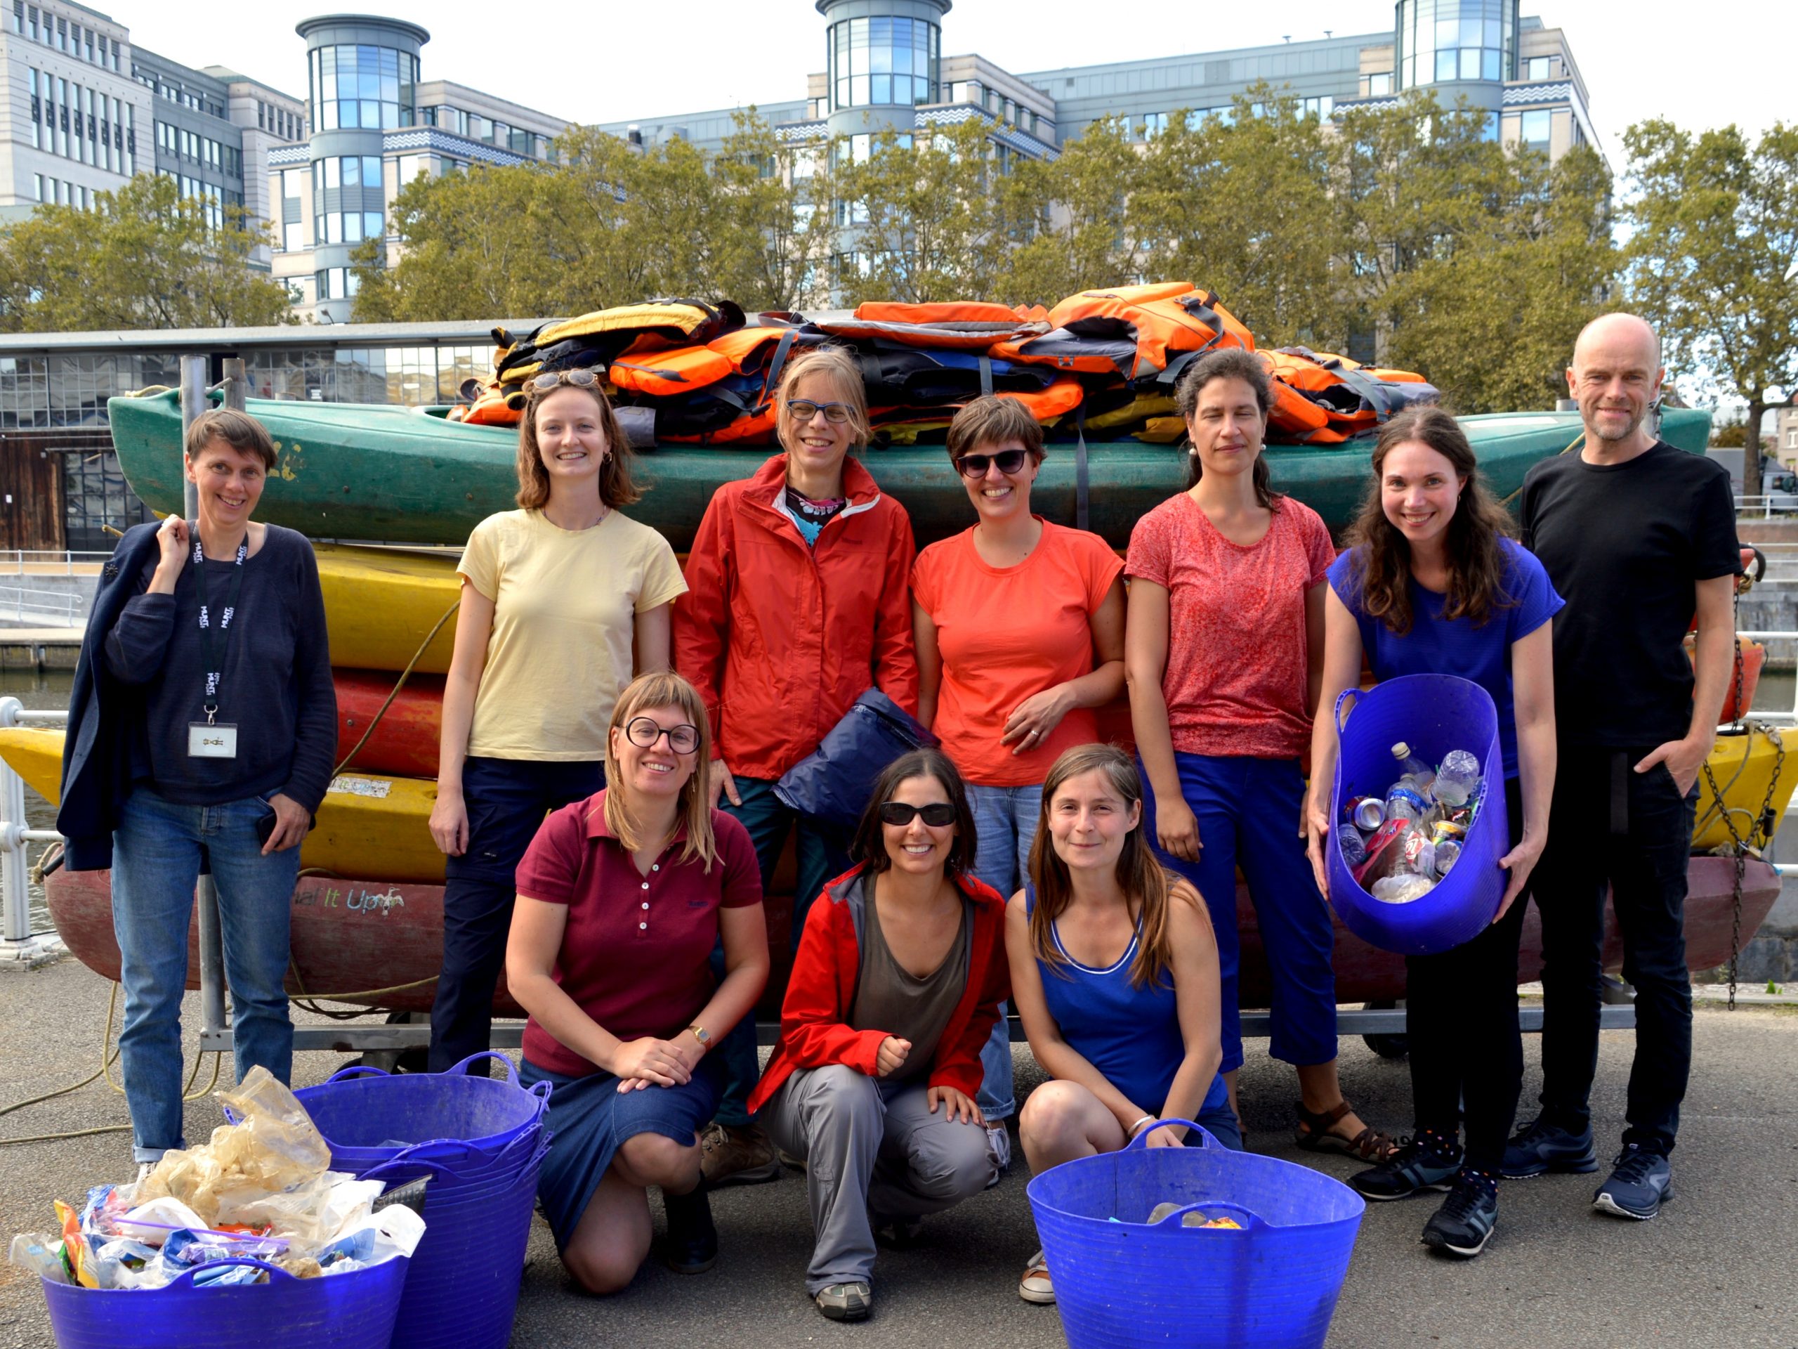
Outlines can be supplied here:
[[93, 210], [41, 205], [0, 234], [0, 329], [266, 327], [291, 324], [284, 286], [250, 266], [246, 212], [225, 227], [169, 178], [142, 173]]

